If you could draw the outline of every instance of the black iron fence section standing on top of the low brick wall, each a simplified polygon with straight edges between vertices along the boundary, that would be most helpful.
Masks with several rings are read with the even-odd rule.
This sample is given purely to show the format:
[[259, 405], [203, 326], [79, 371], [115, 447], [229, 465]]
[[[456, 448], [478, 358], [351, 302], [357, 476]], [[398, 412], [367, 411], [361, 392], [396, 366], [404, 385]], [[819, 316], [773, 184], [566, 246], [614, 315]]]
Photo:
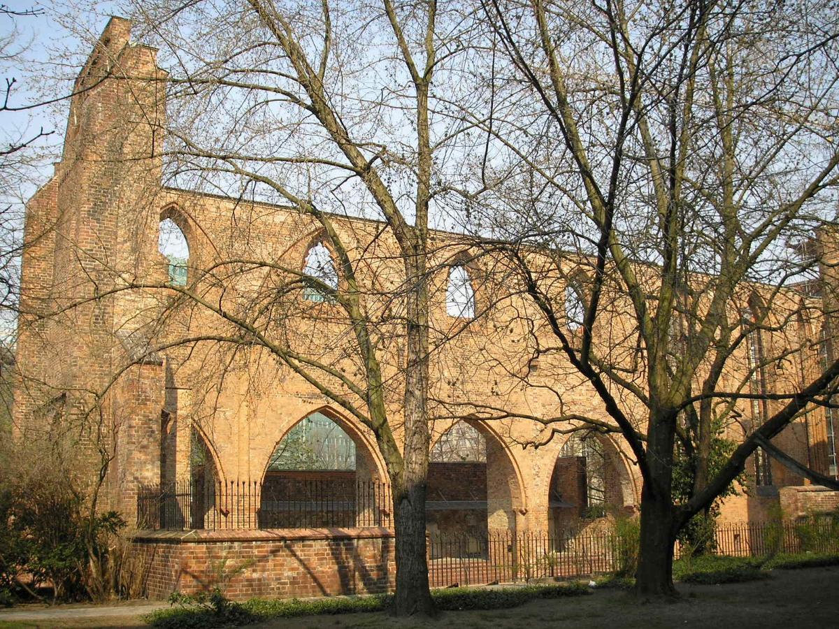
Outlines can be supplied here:
[[391, 526], [388, 488], [378, 481], [294, 479], [178, 481], [138, 491], [141, 529], [356, 528]]

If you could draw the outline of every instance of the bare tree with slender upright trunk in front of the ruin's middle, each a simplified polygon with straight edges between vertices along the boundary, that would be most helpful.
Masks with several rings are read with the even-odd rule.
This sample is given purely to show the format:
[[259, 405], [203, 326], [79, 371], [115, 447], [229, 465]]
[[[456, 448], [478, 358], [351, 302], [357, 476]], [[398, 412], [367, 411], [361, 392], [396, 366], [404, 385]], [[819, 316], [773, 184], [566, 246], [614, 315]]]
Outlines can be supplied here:
[[[138, 3], [134, 13], [169, 71], [164, 176], [242, 203], [230, 242], [207, 243], [212, 255], [173, 263], [164, 281], [112, 273], [95, 299], [146, 291], [155, 314], [143, 355], [188, 348], [185, 361], [203, 365], [221, 343], [234, 348], [226, 364], [248, 356], [270, 372], [279, 361], [372, 431], [393, 493], [395, 611], [428, 613], [429, 363], [449, 334], [433, 330], [430, 287], [456, 253], [433, 237], [432, 216], [461, 197], [466, 176], [472, 125], [448, 99], [471, 97], [457, 80], [475, 23], [458, 8], [389, 0]], [[271, 218], [258, 200], [284, 210]], [[289, 211], [300, 220], [282, 229], [309, 239], [298, 243], [303, 268], [248, 245], [248, 231], [279, 229]], [[175, 300], [148, 297], [158, 289]], [[180, 335], [175, 320], [190, 321]]]

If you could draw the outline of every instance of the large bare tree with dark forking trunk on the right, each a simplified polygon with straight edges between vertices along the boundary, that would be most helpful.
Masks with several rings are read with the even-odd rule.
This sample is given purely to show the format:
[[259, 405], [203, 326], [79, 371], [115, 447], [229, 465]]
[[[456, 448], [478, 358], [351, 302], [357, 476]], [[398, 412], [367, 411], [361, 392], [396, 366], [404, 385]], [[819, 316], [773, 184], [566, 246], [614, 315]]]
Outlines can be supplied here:
[[[481, 5], [503, 54], [491, 123], [466, 116], [508, 156], [487, 170], [519, 168], [487, 221], [513, 243], [520, 287], [550, 330], [552, 343], [534, 335], [534, 356], [560, 355], [562, 377], [584, 377], [608, 415], [565, 406], [540, 419], [623, 435], [644, 480], [638, 593], [671, 595], [685, 522], [747, 460], [765, 473], [770, 439], [836, 390], [832, 357], [780, 375], [822, 343], [800, 322], [820, 327], [805, 280], [831, 262], [800, 245], [834, 224], [836, 13], [821, 2]], [[541, 368], [529, 382], [560, 401], [567, 386]], [[711, 440], [729, 424], [740, 443], [711, 473]], [[676, 441], [696, 468], [678, 504]]]

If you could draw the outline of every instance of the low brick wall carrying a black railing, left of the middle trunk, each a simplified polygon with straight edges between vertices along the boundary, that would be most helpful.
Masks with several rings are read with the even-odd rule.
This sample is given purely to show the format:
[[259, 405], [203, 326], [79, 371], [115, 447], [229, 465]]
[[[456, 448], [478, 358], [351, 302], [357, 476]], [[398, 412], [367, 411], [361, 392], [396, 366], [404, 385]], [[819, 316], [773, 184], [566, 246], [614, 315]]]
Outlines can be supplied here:
[[393, 589], [393, 531], [138, 532], [133, 559], [143, 590], [164, 599], [222, 586], [232, 599], [373, 594]]

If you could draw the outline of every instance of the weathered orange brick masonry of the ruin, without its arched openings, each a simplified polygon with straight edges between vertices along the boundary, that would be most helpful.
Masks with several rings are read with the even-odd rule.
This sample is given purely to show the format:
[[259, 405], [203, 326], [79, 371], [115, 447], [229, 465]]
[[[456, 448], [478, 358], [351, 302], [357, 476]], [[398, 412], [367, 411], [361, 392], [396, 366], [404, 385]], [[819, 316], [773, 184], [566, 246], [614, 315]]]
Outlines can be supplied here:
[[[213, 480], [261, 483], [277, 444], [302, 418], [315, 412], [333, 419], [356, 444], [357, 481], [386, 482], [383, 457], [372, 431], [349, 413], [342, 413], [305, 378], [266, 356], [267, 352], [237, 350], [234, 356], [214, 342], [179, 345], [196, 334], [228, 335], [230, 330], [205, 310], [184, 304], [171, 294], [166, 284], [168, 265], [157, 246], [160, 221], [171, 219], [184, 232], [190, 250], [187, 281], [195, 283], [199, 292], [206, 288], [202, 282], [207, 280], [207, 269], [244, 258], [301, 269], [308, 247], [323, 240], [323, 230], [311, 216], [288, 207], [162, 185], [163, 160], [155, 147], [164, 146], [166, 73], [158, 67], [154, 49], [133, 44], [130, 31], [127, 20], [112, 18], [108, 23], [76, 81], [65, 151], [55, 165], [55, 175], [29, 201], [25, 241], [33, 244], [22, 257], [22, 314], [16, 355], [27, 386], [17, 387], [15, 392], [16, 429], [23, 434], [29, 430], [44, 433], [58, 417], [68, 425], [78, 423], [70, 431], [81, 434], [81, 443], [73, 444], [74, 449], [90, 453], [92, 472], [102, 446], [107, 446], [105, 451], [114, 457], [100, 504], [120, 510], [129, 521], [133, 521], [141, 486], [194, 479], [191, 455], [196, 441], [204, 445], [206, 461], [201, 465], [206, 464], [206, 473]], [[118, 79], [112, 80], [112, 75]], [[383, 231], [376, 221], [347, 216], [334, 217], [334, 226], [349, 243], [352, 257], [377, 261], [369, 268], [359, 265], [359, 285], [369, 291], [370, 303], [378, 304], [381, 294], [377, 287], [399, 286], [400, 273], [404, 273], [393, 234]], [[826, 266], [821, 269], [824, 284], [836, 286], [836, 233], [817, 237], [826, 247]], [[534, 352], [539, 354], [537, 346], [545, 348], [555, 342], [539, 324], [532, 304], [519, 290], [505, 285], [511, 280], [490, 273], [492, 260], [470, 266], [477, 310], [486, 307], [487, 315], [463, 320], [447, 314], [447, 261], [456, 252], [465, 255], [472, 245], [443, 232], [434, 232], [431, 240], [430, 268], [442, 270], [430, 280], [430, 326], [451, 330], [452, 340], [435, 351], [429, 376], [432, 397], [464, 403], [466, 408], [487, 403], [491, 408], [503, 408], [511, 417], [556, 417], [567, 410], [606, 421], [608, 413], [596, 392], [562, 356], [543, 354], [536, 356], [538, 361], [531, 360]], [[294, 273], [274, 274], [263, 269], [242, 271], [234, 274], [226, 289], [234, 294], [242, 290], [235, 299], [248, 304], [245, 314], [273, 313], [273, 309], [253, 309], [253, 295], [248, 291], [254, 286], [290, 286], [295, 277]], [[158, 290], [134, 287], [109, 294], [109, 289], [119, 289], [126, 279], [155, 285]], [[563, 290], [560, 279], [556, 278], [559, 295]], [[206, 289], [210, 291], [207, 294], [216, 290]], [[804, 348], [793, 352], [789, 360], [766, 366], [766, 387], [772, 391], [800, 389], [819, 372], [822, 360], [818, 348], [802, 340], [819, 338], [819, 318], [824, 304], [830, 305], [832, 292], [827, 290], [821, 299], [763, 285], [743, 289], [758, 296], [763, 292], [771, 299], [768, 329], [760, 336], [767, 351], [785, 356], [785, 348]], [[290, 315], [282, 321], [266, 315], [254, 325], [262, 325], [269, 337], [287, 335], [295, 346], [305, 348], [315, 340], [318, 361], [362, 382], [357, 361], [348, 357], [352, 351], [346, 351], [347, 338], [352, 335], [348, 335], [346, 318], [341, 319], [335, 304], [307, 302], [294, 290], [275, 293], [272, 289], [266, 294], [279, 299], [274, 305], [283, 312], [288, 309]], [[608, 330], [609, 336], [634, 343], [637, 333], [633, 319], [625, 314], [630, 309], [627, 300], [617, 293], [608, 297], [604, 301], [610, 306], [604, 310], [600, 328]], [[74, 302], [76, 307], [62, 309]], [[801, 304], [812, 313], [812, 320], [793, 316], [801, 312]], [[373, 310], [377, 309], [375, 305]], [[390, 325], [388, 321], [392, 322], [390, 314], [383, 325]], [[545, 336], [539, 339], [540, 335]], [[393, 418], [394, 436], [401, 442], [404, 379], [399, 366], [404, 364], [405, 343], [395, 333], [391, 340], [382, 349], [383, 378], [391, 385], [385, 403], [388, 418]], [[609, 340], [604, 337], [596, 342], [607, 344]], [[164, 349], [143, 351], [153, 346]], [[615, 348], [609, 345], [598, 349], [625, 354], [627, 361], [636, 356], [633, 346], [623, 347], [625, 352], [612, 352]], [[724, 387], [737, 387], [747, 377], [744, 366], [748, 360], [742, 348], [731, 363], [730, 370], [722, 374]], [[628, 363], [627, 373], [634, 373], [636, 367]], [[535, 386], [525, 386], [522, 378]], [[103, 397], [96, 394], [106, 390]], [[363, 405], [362, 400], [356, 402]], [[765, 411], [773, 413], [780, 406], [780, 402], [772, 402]], [[643, 405], [628, 401], [626, 407], [628, 416], [644, 432]], [[91, 408], [97, 412], [91, 413]], [[430, 417], [433, 440], [451, 428], [451, 412], [445, 408], [430, 411], [432, 415], [435, 412], [439, 418]], [[741, 401], [735, 414], [743, 419], [728, 425], [726, 434], [742, 439], [754, 427], [753, 408]], [[448, 516], [441, 516], [440, 523], [490, 533], [555, 532], [591, 523], [577, 522], [584, 495], [580, 474], [566, 464], [557, 465], [567, 434], [562, 430], [552, 433], [529, 420], [465, 420], [486, 442], [486, 464], [482, 470], [460, 468], [462, 483], [470, 485], [468, 492], [457, 487], [457, 476], [450, 473], [453, 469], [441, 470], [438, 480], [432, 481], [441, 483], [450, 500], [485, 500], [486, 514], [481, 514], [481, 522], [471, 513], [448, 523], [443, 521]], [[607, 457], [607, 506], [613, 511], [637, 511], [640, 475], [627, 444], [613, 435], [597, 439]], [[796, 418], [774, 443], [798, 460], [810, 461], [816, 470], [829, 473], [829, 430], [823, 408]], [[526, 444], [539, 447], [522, 447]], [[754, 469], [754, 461], [749, 460], [742, 491], [723, 504], [723, 522], [764, 520], [783, 502], [780, 489], [807, 486], [773, 461], [772, 485], [758, 487]], [[571, 507], [551, 507], [551, 501], [560, 502], [552, 495], [561, 496], [561, 502]], [[785, 504], [796, 512], [835, 504], [820, 491], [790, 496], [796, 497]], [[810, 504], [816, 507], [808, 507]], [[242, 574], [231, 578], [231, 587], [242, 595], [274, 587], [269, 583], [284, 584], [283, 592], [299, 587], [299, 595], [376, 590], [383, 589], [392, 574], [392, 543], [384, 533], [373, 537], [336, 533], [333, 538], [328, 532], [321, 537], [307, 533], [305, 538], [289, 538], [284, 533], [282, 539], [278, 535], [260, 537], [263, 533], [258, 532], [243, 534], [243, 538], [217, 538], [202, 533], [200, 539], [188, 538], [182, 543], [165, 536], [138, 538], [135, 548], [149, 565], [149, 591], [159, 595], [176, 587], [200, 589], [220, 579], [216, 575], [220, 570], [236, 566], [235, 571], [246, 564]], [[265, 574], [272, 578], [264, 578]], [[276, 595], [284, 594], [278, 591]]]

